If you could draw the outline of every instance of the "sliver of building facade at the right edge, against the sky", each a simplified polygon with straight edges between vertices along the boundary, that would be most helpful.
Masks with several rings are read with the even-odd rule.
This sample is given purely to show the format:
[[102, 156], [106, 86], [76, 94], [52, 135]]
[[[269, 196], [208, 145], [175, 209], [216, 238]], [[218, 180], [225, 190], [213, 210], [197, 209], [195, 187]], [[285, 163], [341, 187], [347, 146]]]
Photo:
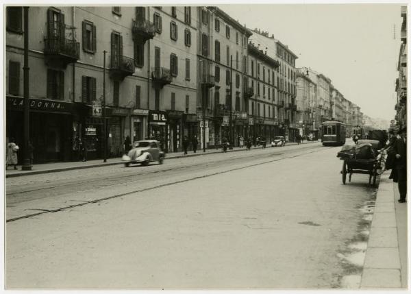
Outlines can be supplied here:
[[401, 7], [401, 46], [399, 48], [398, 66], [399, 77], [396, 80], [395, 91], [397, 92], [397, 103], [395, 104], [395, 110], [397, 114], [395, 119], [398, 126], [406, 127], [407, 125], [407, 7]]

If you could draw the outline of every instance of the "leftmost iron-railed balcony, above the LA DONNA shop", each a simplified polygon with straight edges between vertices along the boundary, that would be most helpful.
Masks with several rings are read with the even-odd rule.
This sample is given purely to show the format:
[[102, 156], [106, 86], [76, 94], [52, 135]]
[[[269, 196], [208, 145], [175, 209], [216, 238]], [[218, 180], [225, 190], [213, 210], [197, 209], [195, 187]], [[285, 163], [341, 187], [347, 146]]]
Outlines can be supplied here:
[[66, 68], [79, 60], [80, 43], [75, 39], [45, 38], [45, 57], [50, 66]]

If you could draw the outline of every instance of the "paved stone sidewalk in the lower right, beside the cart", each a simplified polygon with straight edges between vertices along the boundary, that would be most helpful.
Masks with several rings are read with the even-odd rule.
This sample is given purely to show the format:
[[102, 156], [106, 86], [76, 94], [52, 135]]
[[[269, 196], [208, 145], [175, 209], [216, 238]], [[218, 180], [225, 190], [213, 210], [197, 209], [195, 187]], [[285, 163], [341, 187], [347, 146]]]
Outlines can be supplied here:
[[386, 171], [379, 180], [360, 289], [408, 287], [408, 206], [397, 201], [398, 184], [389, 175]]

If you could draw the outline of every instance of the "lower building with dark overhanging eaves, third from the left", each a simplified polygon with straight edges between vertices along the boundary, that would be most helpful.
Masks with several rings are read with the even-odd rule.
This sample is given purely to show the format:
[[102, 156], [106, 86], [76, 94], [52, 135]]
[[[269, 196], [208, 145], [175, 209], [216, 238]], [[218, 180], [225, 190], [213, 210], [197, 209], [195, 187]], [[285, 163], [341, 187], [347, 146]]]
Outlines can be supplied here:
[[[251, 98], [247, 106], [250, 117], [249, 136], [264, 136], [269, 142], [274, 136], [284, 135], [284, 129], [278, 124], [278, 91], [277, 69], [279, 62], [258, 49], [255, 45], [248, 45], [248, 81], [245, 82], [245, 93]], [[282, 106], [281, 106], [282, 107]]]

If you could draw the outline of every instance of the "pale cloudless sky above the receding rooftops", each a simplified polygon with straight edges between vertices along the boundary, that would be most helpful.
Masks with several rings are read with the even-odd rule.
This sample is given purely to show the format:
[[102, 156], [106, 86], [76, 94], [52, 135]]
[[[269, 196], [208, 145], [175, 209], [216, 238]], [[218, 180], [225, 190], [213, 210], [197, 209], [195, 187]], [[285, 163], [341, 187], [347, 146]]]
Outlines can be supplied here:
[[274, 34], [298, 56], [297, 67], [332, 79], [364, 114], [395, 117], [401, 4], [218, 6], [247, 28]]

